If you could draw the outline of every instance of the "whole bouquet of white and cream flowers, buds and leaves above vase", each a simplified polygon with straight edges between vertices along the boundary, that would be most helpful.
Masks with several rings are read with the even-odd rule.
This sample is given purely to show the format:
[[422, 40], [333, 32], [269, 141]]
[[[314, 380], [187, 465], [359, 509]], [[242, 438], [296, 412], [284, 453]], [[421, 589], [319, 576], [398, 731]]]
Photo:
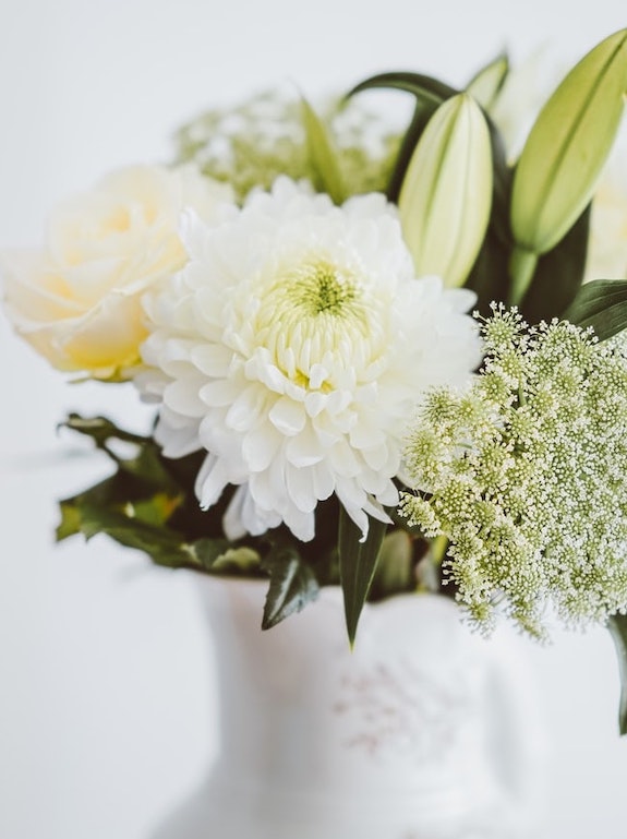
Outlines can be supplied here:
[[[172, 165], [110, 173], [44, 250], [3, 253], [17, 333], [155, 405], [145, 435], [68, 417], [112, 471], [61, 501], [58, 539], [267, 580], [264, 628], [339, 586], [351, 645], [366, 601], [408, 592], [486, 632], [601, 623], [627, 680], [627, 260], [590, 256], [627, 31], [516, 156], [514, 72], [499, 56], [463, 91], [389, 72], [317, 109], [212, 111]], [[374, 88], [411, 104], [402, 129]]]

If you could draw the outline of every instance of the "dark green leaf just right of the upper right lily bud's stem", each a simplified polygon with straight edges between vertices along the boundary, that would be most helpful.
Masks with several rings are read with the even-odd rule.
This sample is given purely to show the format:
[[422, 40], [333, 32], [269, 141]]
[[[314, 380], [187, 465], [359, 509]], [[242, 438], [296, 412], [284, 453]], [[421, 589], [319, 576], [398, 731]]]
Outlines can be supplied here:
[[552, 251], [538, 261], [533, 279], [520, 304], [529, 323], [564, 316], [581, 288], [586, 269], [590, 206]]

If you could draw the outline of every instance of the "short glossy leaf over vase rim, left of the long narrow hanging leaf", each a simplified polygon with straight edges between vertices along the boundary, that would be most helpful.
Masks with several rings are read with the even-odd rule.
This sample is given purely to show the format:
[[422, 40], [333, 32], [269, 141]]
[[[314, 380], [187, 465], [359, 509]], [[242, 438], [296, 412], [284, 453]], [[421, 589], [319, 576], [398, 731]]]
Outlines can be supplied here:
[[276, 626], [316, 599], [317, 579], [293, 544], [274, 546], [262, 560], [262, 568], [270, 577], [262, 630]]

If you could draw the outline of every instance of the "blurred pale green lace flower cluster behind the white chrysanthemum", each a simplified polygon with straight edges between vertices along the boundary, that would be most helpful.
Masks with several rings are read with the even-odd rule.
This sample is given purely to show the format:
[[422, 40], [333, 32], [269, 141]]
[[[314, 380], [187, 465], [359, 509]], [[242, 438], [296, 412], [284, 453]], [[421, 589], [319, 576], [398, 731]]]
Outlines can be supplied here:
[[[348, 194], [385, 191], [400, 145], [400, 132], [357, 101], [333, 101], [325, 121], [337, 146]], [[177, 163], [197, 164], [208, 177], [227, 181], [240, 200], [255, 187], [268, 189], [279, 175], [315, 182], [302, 101], [266, 92], [236, 108], [208, 111], [176, 135]]]

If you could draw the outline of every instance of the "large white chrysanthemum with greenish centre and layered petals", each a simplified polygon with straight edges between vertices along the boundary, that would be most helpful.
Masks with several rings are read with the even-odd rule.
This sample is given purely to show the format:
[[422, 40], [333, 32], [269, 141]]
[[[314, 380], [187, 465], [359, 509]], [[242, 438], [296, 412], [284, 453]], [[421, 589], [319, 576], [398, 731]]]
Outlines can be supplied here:
[[471, 292], [413, 277], [383, 195], [337, 207], [282, 178], [218, 227], [188, 215], [182, 239], [185, 268], [145, 300], [138, 384], [167, 456], [208, 452], [202, 506], [241, 484], [231, 538], [285, 523], [310, 540], [334, 492], [364, 534], [366, 513], [387, 520], [415, 403], [479, 362]]

